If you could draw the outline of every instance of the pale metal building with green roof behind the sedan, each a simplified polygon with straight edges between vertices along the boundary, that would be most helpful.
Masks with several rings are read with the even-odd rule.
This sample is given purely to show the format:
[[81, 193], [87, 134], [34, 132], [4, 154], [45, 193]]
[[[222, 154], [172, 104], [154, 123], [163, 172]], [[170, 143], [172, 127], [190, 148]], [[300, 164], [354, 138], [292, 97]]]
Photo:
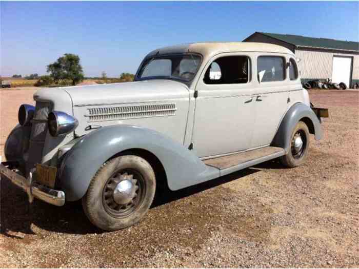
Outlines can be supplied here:
[[327, 78], [344, 82], [350, 88], [359, 83], [358, 42], [262, 32], [255, 32], [243, 41], [281, 45], [294, 52], [301, 59], [298, 68], [302, 83]]

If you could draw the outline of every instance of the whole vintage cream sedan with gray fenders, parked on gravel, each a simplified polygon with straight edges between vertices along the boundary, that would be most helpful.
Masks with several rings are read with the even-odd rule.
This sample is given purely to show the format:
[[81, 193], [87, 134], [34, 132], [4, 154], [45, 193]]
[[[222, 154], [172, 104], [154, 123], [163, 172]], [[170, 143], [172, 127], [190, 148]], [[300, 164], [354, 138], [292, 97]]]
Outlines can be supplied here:
[[[175, 191], [280, 158], [302, 164], [321, 117], [288, 49], [195, 43], [156, 49], [133, 82], [41, 89], [22, 105], [0, 174], [54, 205], [82, 200], [97, 227], [141, 220]], [[285, 171], [284, 171], [285, 172]]]

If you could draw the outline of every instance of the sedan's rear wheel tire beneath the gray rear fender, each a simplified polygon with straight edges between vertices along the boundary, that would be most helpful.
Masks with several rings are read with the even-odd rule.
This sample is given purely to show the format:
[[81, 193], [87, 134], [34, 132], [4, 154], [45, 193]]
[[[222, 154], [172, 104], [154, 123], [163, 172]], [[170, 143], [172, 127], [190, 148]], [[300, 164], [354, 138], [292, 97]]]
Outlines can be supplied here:
[[[294, 147], [294, 137], [298, 137], [298, 134], [300, 134], [300, 137], [303, 141], [303, 146], [300, 151], [297, 151]], [[309, 130], [307, 125], [303, 121], [299, 121], [297, 125], [295, 126], [291, 137], [290, 137], [290, 149], [289, 152], [280, 157], [280, 161], [282, 164], [286, 167], [293, 168], [301, 165], [308, 155], [309, 150]]]

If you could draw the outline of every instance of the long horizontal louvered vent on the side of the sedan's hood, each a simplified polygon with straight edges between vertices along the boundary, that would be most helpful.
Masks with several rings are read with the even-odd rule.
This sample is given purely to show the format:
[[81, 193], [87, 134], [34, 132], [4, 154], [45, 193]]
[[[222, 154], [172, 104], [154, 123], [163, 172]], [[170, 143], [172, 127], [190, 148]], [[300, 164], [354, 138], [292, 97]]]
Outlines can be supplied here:
[[161, 117], [175, 115], [175, 104], [152, 104], [127, 107], [90, 108], [88, 121], [105, 121], [129, 118]]

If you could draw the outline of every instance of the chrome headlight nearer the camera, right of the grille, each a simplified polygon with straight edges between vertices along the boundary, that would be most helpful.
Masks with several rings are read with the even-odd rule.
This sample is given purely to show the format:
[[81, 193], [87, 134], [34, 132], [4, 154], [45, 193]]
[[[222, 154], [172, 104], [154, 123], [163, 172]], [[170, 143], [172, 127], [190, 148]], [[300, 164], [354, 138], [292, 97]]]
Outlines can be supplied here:
[[47, 118], [47, 125], [52, 136], [62, 136], [75, 130], [78, 121], [65, 112], [52, 111]]

